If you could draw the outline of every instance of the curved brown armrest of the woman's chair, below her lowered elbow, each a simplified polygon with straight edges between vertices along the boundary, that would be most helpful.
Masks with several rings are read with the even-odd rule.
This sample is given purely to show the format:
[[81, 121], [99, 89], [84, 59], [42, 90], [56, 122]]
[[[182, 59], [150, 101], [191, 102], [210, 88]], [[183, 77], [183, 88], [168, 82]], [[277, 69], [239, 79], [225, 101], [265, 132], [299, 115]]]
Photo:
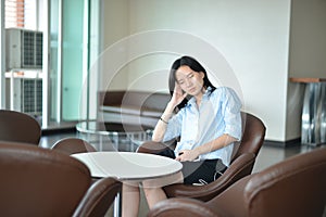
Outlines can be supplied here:
[[255, 155], [253, 153], [244, 153], [238, 156], [218, 179], [209, 184], [175, 183], [164, 187], [163, 190], [167, 197], [189, 197], [205, 202], [222, 193], [237, 180], [250, 175], [254, 161]]

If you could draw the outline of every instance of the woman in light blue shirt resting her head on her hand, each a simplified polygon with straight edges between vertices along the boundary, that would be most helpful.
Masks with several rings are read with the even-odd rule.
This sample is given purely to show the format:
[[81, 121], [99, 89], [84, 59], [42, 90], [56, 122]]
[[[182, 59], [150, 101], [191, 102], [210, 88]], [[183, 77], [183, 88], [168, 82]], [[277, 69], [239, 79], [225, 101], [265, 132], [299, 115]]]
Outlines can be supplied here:
[[[215, 88], [197, 60], [183, 56], [173, 63], [170, 88], [172, 98], [154, 128], [152, 140], [165, 142], [179, 137], [175, 150], [162, 155], [181, 162], [184, 167], [172, 177], [142, 182], [150, 208], [166, 199], [163, 186], [173, 182], [205, 184], [218, 178], [229, 166], [234, 142], [241, 138], [239, 98], [229, 88]], [[174, 115], [175, 110], [178, 112]], [[135, 187], [124, 184], [123, 188], [124, 192], [137, 192]], [[128, 202], [123, 201], [124, 216], [138, 213], [139, 202], [133, 209], [125, 206], [135, 200]]]

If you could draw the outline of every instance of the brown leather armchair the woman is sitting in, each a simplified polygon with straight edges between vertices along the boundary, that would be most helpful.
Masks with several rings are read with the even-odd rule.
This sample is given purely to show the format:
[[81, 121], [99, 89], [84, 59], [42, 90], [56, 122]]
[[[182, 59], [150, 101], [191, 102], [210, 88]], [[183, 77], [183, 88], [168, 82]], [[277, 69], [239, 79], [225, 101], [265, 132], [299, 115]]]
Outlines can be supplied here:
[[[167, 197], [190, 197], [209, 201], [240, 178], [251, 174], [255, 157], [263, 144], [266, 129], [258, 117], [244, 112], [241, 113], [241, 116], [242, 139], [238, 149], [234, 152], [231, 164], [225, 173], [215, 181], [204, 186], [176, 183], [164, 187]], [[163, 143], [146, 142], [139, 146], [138, 152], [158, 153], [167, 148]]]

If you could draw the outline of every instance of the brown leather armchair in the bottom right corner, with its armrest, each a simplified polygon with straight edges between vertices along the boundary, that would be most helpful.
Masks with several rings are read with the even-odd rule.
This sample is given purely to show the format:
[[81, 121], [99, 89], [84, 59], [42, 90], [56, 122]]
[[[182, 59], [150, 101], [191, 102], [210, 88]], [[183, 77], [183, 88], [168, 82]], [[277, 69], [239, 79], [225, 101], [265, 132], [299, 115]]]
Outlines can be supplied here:
[[158, 203], [148, 216], [322, 217], [326, 215], [325, 183], [323, 148], [250, 175], [209, 202], [170, 199]]

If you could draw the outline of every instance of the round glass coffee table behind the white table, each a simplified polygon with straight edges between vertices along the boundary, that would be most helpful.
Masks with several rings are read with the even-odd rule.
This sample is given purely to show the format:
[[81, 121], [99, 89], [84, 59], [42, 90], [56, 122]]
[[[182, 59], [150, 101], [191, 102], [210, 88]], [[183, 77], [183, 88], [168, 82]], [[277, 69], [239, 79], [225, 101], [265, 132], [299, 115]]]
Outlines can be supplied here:
[[153, 129], [143, 125], [80, 122], [76, 125], [78, 137], [93, 144], [98, 151], [135, 152], [143, 142], [151, 140]]

